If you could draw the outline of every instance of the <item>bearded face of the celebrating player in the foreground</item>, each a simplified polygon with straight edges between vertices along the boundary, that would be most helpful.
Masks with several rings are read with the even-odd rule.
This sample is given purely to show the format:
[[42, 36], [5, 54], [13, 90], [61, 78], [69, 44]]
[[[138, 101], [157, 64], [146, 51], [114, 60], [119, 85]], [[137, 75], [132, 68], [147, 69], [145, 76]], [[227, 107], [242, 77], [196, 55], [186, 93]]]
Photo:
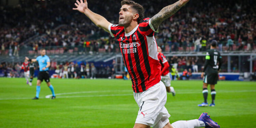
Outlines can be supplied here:
[[132, 21], [134, 10], [130, 5], [124, 4], [119, 12], [119, 25], [128, 27]]

